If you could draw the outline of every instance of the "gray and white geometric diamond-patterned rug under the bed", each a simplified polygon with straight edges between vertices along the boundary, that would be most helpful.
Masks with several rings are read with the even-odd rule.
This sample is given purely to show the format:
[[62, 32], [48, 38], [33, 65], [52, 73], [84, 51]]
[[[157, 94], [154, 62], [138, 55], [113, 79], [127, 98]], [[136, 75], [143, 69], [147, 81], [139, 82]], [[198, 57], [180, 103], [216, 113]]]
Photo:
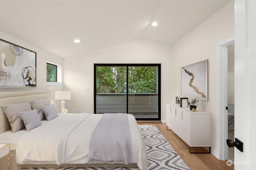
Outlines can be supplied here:
[[[148, 170], [189, 170], [154, 125], [138, 125], [147, 149]], [[139, 168], [22, 168], [21, 170], [139, 170]]]

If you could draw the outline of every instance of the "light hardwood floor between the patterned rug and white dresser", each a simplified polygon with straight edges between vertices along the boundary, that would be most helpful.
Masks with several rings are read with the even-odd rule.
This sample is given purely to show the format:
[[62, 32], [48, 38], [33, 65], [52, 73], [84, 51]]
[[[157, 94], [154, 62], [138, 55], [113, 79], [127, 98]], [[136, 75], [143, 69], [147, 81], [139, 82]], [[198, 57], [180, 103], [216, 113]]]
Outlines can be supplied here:
[[172, 130], [166, 130], [166, 124], [137, 122], [138, 125], [155, 125], [166, 140], [172, 145], [191, 170], [234, 170], [226, 161], [218, 160], [212, 154], [190, 154], [189, 146]]

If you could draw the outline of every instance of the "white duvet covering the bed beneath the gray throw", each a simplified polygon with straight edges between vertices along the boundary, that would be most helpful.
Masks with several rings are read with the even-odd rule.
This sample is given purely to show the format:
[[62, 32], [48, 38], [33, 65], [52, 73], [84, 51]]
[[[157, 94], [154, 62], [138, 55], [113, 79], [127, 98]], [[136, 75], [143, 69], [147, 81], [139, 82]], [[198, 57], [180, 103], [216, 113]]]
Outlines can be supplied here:
[[[102, 114], [64, 114], [22, 135], [16, 148], [18, 164], [86, 164], [90, 136]], [[132, 163], [147, 169], [144, 141], [133, 115], [128, 115]], [[104, 141], [103, 141], [104, 142]], [[123, 163], [100, 162], [90, 163]]]

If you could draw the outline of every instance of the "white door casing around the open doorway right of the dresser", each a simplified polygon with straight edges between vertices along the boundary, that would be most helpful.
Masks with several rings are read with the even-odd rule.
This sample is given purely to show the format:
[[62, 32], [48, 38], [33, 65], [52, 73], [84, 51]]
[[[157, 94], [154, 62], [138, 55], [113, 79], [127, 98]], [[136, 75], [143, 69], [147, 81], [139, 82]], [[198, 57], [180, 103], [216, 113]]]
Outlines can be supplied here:
[[216, 44], [216, 117], [219, 134], [219, 150], [216, 157], [228, 160], [228, 46], [234, 44], [234, 37]]

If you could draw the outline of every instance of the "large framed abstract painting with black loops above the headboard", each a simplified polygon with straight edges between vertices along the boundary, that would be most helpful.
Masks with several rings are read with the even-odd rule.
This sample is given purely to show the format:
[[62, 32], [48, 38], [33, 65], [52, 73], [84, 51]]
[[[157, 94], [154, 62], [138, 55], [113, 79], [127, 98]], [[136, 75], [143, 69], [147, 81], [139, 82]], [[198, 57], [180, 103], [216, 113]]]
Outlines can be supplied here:
[[0, 39], [0, 87], [36, 87], [36, 52]]

